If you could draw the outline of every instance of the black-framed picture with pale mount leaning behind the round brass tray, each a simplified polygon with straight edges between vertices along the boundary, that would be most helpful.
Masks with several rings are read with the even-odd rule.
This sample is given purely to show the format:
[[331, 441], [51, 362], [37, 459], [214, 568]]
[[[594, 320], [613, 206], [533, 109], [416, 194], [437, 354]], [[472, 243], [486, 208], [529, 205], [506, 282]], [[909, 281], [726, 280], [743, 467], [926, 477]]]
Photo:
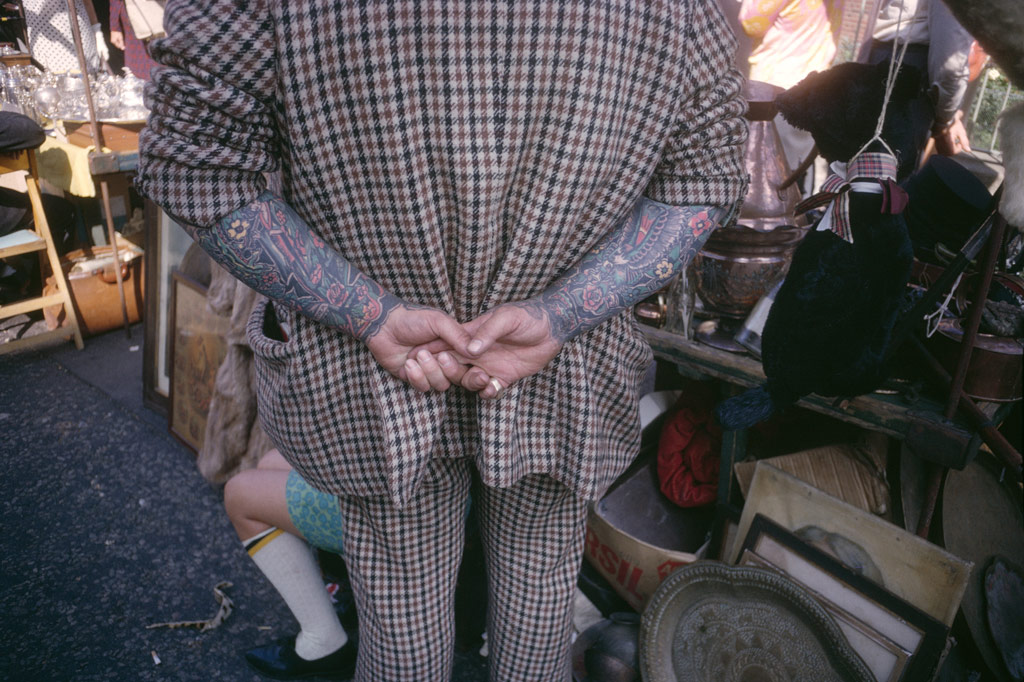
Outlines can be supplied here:
[[879, 682], [928, 680], [938, 667], [945, 625], [768, 517], [754, 517], [739, 563], [774, 568], [811, 592]]

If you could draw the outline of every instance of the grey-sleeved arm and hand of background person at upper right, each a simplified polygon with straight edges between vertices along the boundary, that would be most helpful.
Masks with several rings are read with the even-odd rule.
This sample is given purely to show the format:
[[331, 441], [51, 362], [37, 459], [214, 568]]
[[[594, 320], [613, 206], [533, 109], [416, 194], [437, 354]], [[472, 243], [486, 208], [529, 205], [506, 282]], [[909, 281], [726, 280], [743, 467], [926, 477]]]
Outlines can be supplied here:
[[945, 2], [931, 0], [928, 7], [928, 76], [935, 104], [932, 137], [939, 154], [971, 151], [961, 105], [967, 92], [968, 59], [973, 41]]

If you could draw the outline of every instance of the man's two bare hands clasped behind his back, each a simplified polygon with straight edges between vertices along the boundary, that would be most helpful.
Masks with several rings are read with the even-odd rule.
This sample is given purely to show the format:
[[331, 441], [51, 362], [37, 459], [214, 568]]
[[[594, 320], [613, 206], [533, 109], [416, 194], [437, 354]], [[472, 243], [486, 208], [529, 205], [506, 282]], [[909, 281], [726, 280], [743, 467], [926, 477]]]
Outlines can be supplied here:
[[500, 305], [466, 324], [403, 303], [367, 346], [381, 367], [418, 390], [459, 385], [494, 399], [543, 370], [562, 344], [541, 304], [529, 300]]

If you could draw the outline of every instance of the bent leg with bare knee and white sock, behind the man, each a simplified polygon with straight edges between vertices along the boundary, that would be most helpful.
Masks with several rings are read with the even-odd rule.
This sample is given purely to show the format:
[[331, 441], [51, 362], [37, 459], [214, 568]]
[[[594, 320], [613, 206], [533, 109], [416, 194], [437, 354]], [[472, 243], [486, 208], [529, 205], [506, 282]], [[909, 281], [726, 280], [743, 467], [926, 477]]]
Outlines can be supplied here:
[[[316, 559], [292, 520], [288, 492], [291, 487], [294, 497], [296, 486], [312, 491], [271, 451], [256, 469], [242, 471], [227, 481], [224, 508], [253, 562], [299, 623], [295, 653], [315, 660], [341, 649], [348, 636], [338, 622]], [[256, 653], [266, 657], [263, 654]]]

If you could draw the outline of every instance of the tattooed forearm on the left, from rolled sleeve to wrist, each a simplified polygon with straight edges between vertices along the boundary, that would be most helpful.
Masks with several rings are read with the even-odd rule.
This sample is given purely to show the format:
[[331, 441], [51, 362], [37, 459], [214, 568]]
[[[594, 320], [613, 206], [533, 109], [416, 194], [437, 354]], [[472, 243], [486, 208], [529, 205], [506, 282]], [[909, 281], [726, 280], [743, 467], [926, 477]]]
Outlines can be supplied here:
[[362, 341], [373, 338], [400, 303], [269, 191], [219, 223], [190, 231], [252, 289]]

